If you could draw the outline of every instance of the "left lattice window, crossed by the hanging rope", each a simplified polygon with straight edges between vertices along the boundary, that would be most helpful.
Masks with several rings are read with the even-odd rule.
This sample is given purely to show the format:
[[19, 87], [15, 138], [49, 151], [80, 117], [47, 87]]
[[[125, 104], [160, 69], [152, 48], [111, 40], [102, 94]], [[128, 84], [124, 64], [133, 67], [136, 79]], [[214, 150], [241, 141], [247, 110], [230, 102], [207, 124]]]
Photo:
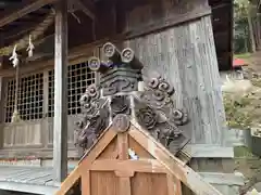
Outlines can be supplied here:
[[[18, 88], [18, 113], [23, 120], [35, 120], [42, 118], [44, 103], [44, 74], [34, 74], [22, 77]], [[15, 79], [7, 83], [5, 92], [5, 122], [11, 122], [14, 110]]]

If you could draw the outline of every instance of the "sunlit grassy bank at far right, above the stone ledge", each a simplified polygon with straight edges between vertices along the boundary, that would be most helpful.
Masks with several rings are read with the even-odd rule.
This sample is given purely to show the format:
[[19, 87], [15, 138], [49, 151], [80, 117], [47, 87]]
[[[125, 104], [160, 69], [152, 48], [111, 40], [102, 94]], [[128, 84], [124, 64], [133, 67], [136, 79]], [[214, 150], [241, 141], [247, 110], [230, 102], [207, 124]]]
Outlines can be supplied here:
[[248, 129], [261, 123], [261, 52], [238, 57], [249, 64], [244, 68], [248, 80], [227, 83], [233, 90], [223, 92], [224, 105], [228, 126]]

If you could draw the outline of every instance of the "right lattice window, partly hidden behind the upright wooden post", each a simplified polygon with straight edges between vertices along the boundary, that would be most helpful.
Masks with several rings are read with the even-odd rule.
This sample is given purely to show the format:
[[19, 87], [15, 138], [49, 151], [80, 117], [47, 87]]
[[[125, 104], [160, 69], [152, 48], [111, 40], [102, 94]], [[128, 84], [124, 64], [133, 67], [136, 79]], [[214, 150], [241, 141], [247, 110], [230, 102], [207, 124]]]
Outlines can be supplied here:
[[[49, 72], [48, 117], [54, 115], [54, 70]], [[95, 73], [88, 68], [87, 62], [70, 65], [67, 68], [67, 114], [80, 113], [79, 98], [87, 86], [95, 83]]]

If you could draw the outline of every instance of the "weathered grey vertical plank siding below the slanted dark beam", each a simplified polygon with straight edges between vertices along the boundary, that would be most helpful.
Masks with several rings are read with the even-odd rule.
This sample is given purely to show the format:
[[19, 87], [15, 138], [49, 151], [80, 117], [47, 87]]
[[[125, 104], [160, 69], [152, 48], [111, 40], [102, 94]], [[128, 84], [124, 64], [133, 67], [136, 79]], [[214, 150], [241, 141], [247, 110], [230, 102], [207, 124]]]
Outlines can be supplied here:
[[[128, 20], [147, 12], [136, 11]], [[157, 72], [175, 87], [177, 107], [185, 106], [189, 114], [184, 129], [191, 142], [222, 144], [225, 114], [211, 15], [129, 39], [125, 46], [144, 63], [146, 76]]]

